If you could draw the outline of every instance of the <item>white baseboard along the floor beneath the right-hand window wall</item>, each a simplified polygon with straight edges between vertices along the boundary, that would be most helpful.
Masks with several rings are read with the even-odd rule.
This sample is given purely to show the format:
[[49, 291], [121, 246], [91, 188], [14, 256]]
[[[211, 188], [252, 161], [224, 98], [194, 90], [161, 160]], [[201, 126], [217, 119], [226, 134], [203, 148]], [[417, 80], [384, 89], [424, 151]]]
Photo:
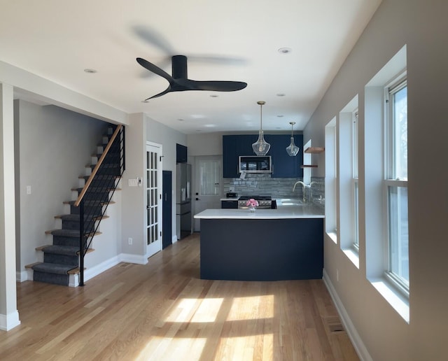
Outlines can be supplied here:
[[342, 304], [341, 299], [337, 295], [336, 289], [333, 286], [330, 277], [325, 272], [325, 269], [323, 269], [323, 283], [325, 284], [328, 292], [330, 293], [330, 297], [335, 303], [337, 313], [339, 313], [339, 317], [341, 318], [342, 325], [344, 325], [344, 329], [346, 330], [347, 334], [349, 335], [349, 338], [351, 340], [351, 343], [353, 344], [353, 347], [356, 350], [356, 353], [358, 353], [358, 357], [362, 361], [373, 361], [372, 356], [370, 356], [369, 352], [367, 351], [367, 348], [365, 347], [365, 344], [363, 343], [363, 340], [360, 338], [358, 331], [356, 331], [355, 326], [351, 322], [351, 319], [349, 317], [349, 313], [347, 313], [344, 304]]

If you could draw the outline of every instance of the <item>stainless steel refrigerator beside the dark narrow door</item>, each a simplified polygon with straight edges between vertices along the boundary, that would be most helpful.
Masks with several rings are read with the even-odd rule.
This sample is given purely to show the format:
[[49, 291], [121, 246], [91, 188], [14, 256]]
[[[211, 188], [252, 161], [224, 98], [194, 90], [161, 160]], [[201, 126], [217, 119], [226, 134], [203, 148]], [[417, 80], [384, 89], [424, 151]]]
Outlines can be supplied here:
[[176, 165], [176, 232], [183, 239], [192, 232], [191, 164]]

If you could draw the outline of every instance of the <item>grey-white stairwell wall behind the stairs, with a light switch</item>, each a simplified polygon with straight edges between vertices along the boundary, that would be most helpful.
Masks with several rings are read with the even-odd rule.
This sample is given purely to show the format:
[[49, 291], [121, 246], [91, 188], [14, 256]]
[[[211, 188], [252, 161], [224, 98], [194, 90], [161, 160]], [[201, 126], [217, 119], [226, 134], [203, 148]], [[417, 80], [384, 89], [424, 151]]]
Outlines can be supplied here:
[[71, 187], [79, 186], [106, 123], [27, 101], [15, 101], [14, 117], [16, 263], [24, 271], [26, 264], [43, 260], [34, 248], [52, 243], [45, 231], [61, 227], [54, 217], [68, 213], [62, 202], [73, 199]]

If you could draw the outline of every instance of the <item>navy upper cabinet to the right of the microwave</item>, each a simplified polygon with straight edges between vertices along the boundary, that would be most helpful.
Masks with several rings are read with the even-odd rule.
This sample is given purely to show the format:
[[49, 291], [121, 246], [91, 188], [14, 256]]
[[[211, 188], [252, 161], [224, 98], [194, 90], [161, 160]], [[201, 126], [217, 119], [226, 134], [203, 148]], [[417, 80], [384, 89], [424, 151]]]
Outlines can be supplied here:
[[265, 140], [271, 145], [267, 155], [272, 157], [272, 178], [302, 178], [303, 169], [303, 135], [295, 134], [294, 143], [300, 148], [295, 157], [286, 153], [290, 144], [290, 134], [267, 134]]

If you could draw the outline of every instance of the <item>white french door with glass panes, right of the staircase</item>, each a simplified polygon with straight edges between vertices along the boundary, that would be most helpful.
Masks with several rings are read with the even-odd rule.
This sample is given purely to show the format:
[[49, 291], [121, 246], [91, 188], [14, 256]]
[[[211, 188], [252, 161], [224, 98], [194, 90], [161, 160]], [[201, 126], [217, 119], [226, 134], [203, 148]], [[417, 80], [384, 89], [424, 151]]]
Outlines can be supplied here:
[[146, 257], [162, 250], [162, 146], [146, 143]]

